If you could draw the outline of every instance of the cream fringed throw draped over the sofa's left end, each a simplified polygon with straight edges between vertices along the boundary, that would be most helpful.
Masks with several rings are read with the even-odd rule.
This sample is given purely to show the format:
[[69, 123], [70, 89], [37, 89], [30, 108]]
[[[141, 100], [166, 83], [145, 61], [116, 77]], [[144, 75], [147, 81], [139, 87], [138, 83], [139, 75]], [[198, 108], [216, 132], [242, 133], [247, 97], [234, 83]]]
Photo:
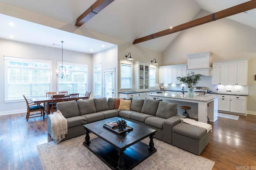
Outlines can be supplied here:
[[68, 133], [67, 120], [59, 110], [48, 116], [50, 116], [51, 119], [52, 139], [56, 143], [60, 143]]

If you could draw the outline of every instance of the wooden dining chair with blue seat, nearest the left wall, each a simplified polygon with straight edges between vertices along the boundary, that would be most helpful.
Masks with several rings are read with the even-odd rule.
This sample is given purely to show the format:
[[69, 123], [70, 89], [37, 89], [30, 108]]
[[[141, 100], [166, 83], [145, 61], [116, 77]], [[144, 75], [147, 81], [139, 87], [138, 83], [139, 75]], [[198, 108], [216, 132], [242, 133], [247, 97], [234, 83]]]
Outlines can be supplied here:
[[[26, 100], [26, 104], [27, 104], [27, 115], [26, 115], [27, 121], [29, 118], [40, 117], [40, 116], [42, 116], [44, 119], [44, 106], [41, 106], [40, 104], [34, 104], [33, 102], [29, 102], [24, 95], [23, 97]], [[34, 113], [30, 115], [31, 112], [36, 112], [36, 111], [37, 112], [40, 111], [40, 113]]]

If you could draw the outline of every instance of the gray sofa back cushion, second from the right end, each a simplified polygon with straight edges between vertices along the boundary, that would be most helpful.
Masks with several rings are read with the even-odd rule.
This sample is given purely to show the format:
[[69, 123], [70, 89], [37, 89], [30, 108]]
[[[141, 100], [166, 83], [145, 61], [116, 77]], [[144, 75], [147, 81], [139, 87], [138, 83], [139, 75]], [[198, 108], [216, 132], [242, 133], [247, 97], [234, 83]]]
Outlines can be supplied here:
[[145, 99], [141, 112], [149, 115], [156, 115], [159, 100]]

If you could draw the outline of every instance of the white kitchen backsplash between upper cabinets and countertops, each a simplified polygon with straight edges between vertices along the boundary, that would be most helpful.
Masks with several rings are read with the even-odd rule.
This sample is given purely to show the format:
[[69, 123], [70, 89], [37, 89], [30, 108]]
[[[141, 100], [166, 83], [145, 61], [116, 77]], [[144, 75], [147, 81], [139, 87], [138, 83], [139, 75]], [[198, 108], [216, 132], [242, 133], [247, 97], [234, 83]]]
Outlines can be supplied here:
[[[164, 84], [164, 90], [180, 91], [182, 90], [182, 86], [185, 87], [185, 91], [188, 90], [187, 84]], [[226, 90], [231, 90], [234, 93], [248, 94], [248, 86], [212, 85], [212, 76], [202, 76], [200, 82], [196, 86], [208, 87], [208, 90], [211, 90], [212, 92], [226, 92]]]

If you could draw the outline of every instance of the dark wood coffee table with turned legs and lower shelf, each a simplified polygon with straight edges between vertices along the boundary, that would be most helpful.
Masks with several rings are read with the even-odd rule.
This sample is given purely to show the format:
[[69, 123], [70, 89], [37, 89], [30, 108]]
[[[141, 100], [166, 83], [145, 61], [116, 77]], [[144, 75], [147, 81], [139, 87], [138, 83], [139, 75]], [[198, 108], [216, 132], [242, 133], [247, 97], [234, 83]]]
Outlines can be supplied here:
[[[86, 135], [83, 144], [110, 168], [132, 169], [156, 152], [153, 142], [156, 130], [127, 120], [127, 125], [133, 130], [120, 135], [103, 127], [108, 122], [118, 120], [121, 118], [112, 117], [84, 125]], [[89, 132], [98, 137], [90, 140]], [[149, 145], [141, 142], [147, 137], [150, 137]]]

